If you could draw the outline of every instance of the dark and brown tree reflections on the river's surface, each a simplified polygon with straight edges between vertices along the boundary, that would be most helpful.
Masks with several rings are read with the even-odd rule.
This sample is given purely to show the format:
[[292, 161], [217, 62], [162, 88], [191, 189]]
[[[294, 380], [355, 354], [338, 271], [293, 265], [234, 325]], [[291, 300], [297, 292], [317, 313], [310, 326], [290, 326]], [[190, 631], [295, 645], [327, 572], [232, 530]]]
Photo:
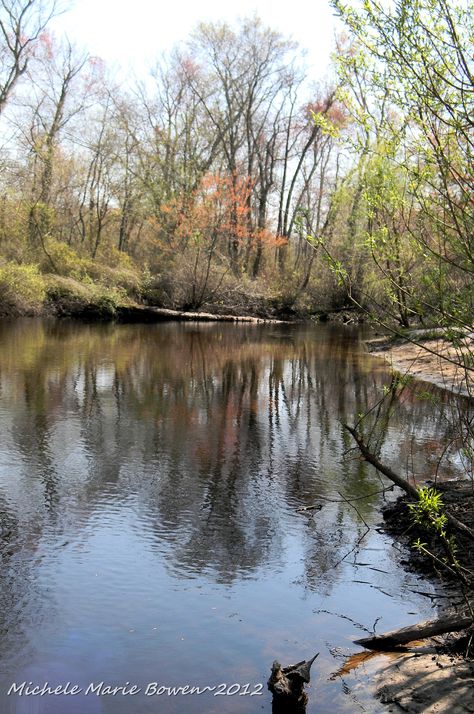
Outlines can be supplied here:
[[[43, 541], [56, 553], [129, 501], [134, 527], [176, 580], [278, 578], [297, 552], [304, 589], [335, 587], [364, 529], [338, 492], [380, 487], [364, 463], [344, 460], [352, 444], [342, 423], [389, 380], [357, 330], [24, 320], [0, 324], [0, 364], [1, 508], [13, 553], [2, 602], [24, 599], [9, 600], [2, 619], [17, 649], [29, 641], [25, 608], [50, 613], [27, 584]], [[426, 444], [450, 428], [449, 400], [439, 406], [405, 393], [383, 435], [386, 460], [425, 468]], [[378, 517], [380, 498], [358, 501], [364, 519]], [[296, 513], [318, 499], [317, 514]]]

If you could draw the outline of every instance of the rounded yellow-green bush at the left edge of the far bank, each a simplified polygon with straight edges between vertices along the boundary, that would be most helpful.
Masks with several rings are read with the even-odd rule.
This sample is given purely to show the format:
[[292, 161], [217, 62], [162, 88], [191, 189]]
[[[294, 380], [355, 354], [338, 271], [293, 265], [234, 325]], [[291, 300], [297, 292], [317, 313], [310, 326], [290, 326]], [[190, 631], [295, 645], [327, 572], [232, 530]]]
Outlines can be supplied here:
[[0, 314], [35, 315], [46, 296], [45, 281], [36, 265], [0, 266]]

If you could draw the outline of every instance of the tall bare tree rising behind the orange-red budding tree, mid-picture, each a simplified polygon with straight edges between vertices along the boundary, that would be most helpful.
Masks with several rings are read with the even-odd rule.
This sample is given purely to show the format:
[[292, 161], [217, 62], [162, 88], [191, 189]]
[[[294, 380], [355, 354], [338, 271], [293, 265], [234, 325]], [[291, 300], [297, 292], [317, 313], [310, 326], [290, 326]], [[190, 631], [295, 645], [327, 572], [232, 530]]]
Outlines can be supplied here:
[[[201, 24], [190, 49], [194, 63], [210, 70], [201, 75], [200, 82], [196, 76], [189, 75], [189, 79], [218, 139], [221, 168], [234, 182], [235, 195], [239, 180], [252, 183], [258, 202], [257, 222], [262, 228], [274, 181], [283, 105], [299, 81], [291, 56], [296, 47], [252, 18], [242, 21], [237, 30], [226, 24]], [[249, 209], [252, 203], [249, 196]], [[248, 264], [251, 251], [238, 237], [237, 205], [232, 216], [228, 254], [238, 274], [242, 264]], [[253, 210], [249, 210], [248, 220], [252, 229]], [[254, 273], [260, 260], [257, 257], [254, 262]]]

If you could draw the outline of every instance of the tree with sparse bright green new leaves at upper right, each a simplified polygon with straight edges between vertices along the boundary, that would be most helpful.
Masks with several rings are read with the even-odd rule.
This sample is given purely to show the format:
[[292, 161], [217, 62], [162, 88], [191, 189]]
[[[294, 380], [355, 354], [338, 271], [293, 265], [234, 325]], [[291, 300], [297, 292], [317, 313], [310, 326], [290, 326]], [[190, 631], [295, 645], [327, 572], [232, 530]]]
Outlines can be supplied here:
[[[397, 147], [388, 158], [409, 193], [399, 218], [424, 257], [419, 303], [441, 322], [468, 326], [474, 272], [472, 2], [332, 4], [356, 42], [346, 67], [353, 71], [361, 123], [369, 127], [366, 155]], [[362, 72], [365, 96], [357, 94]], [[378, 132], [374, 106], [384, 107]], [[408, 293], [399, 271], [391, 280], [400, 303]]]

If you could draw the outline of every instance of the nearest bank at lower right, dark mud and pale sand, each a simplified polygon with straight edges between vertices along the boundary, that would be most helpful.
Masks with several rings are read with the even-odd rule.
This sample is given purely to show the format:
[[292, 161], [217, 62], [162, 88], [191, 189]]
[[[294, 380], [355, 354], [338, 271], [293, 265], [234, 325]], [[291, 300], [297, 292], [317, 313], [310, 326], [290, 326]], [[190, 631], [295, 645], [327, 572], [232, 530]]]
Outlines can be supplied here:
[[[437, 484], [443, 502], [449, 510], [466, 525], [474, 526], [474, 490], [470, 481]], [[427, 594], [436, 606], [438, 615], [443, 612], [461, 611], [465, 599], [460, 584], [453, 580], [447, 569], [437, 567], [411, 546], [417, 538], [429, 542], [430, 550], [440, 559], [443, 549], [440, 543], [413, 524], [407, 506], [407, 498], [401, 497], [383, 512], [385, 529], [398, 542], [405, 545], [405, 554], [400, 564], [433, 579], [442, 589], [433, 595]], [[463, 568], [474, 572], [474, 549], [462, 534], [456, 534], [457, 557]], [[472, 595], [472, 588], [467, 588]], [[474, 651], [469, 658], [464, 655], [469, 649], [471, 630], [456, 635], [443, 635], [424, 640], [421, 651], [392, 654], [378, 671], [376, 696], [388, 711], [393, 712], [474, 712]]]

